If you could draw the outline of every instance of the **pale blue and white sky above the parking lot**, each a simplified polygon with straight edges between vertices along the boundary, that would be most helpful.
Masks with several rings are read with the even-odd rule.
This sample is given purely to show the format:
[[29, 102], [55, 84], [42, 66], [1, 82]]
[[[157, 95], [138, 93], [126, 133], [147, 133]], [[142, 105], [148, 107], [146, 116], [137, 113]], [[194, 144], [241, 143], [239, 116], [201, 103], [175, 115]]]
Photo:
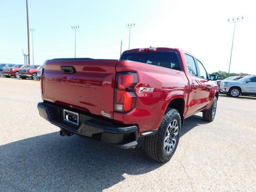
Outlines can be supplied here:
[[[26, 0], [0, 0], [0, 63], [24, 64], [27, 48]], [[256, 3], [250, 0], [29, 0], [30, 27], [34, 32], [34, 64], [52, 58], [118, 59], [130, 48], [181, 48], [202, 61], [206, 70], [228, 71], [236, 23], [230, 72], [256, 74]], [[32, 50], [32, 35], [31, 35]], [[32, 63], [32, 52], [31, 52]]]

